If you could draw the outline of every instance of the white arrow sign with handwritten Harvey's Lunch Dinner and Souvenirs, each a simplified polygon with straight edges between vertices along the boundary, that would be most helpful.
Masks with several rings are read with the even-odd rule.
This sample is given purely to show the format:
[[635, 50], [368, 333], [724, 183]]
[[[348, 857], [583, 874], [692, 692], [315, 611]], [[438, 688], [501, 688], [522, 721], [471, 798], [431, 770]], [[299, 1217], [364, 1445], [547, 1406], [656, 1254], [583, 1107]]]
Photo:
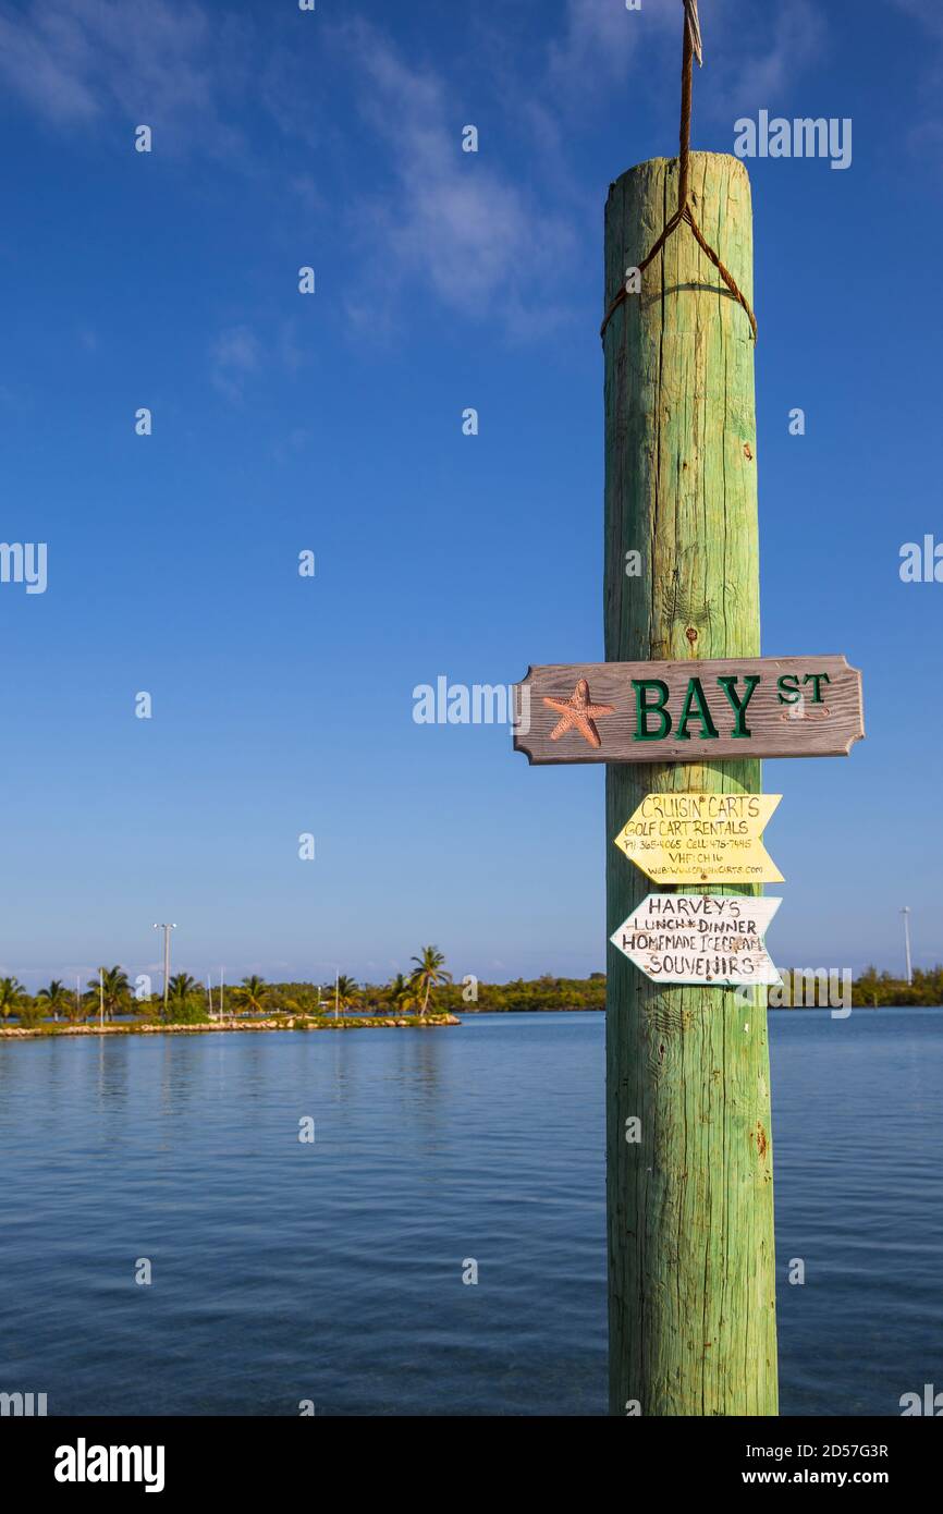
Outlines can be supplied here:
[[743, 893], [649, 893], [610, 940], [654, 983], [780, 984], [763, 937], [781, 904]]

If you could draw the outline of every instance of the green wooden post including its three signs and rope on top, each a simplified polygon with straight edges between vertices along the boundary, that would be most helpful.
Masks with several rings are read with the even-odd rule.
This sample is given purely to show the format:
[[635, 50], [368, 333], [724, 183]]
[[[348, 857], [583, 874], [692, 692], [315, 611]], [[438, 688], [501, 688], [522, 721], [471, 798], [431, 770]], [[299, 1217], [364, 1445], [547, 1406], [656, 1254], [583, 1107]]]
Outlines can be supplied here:
[[678, 157], [605, 206], [605, 662], [515, 689], [531, 765], [605, 765], [610, 1408], [648, 1417], [778, 1411], [760, 759], [864, 736], [845, 656], [760, 657], [749, 179], [690, 151], [695, 56], [684, 0]]

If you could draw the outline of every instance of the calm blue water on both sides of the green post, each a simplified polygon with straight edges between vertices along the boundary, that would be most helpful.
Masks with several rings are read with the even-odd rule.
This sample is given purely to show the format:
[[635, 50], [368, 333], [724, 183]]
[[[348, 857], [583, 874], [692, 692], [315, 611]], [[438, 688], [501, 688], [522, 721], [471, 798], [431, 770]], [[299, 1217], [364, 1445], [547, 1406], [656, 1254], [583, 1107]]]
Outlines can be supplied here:
[[[783, 1411], [896, 1414], [943, 1388], [943, 1011], [770, 1026]], [[601, 1414], [602, 1043], [601, 1014], [0, 1043], [0, 1390]]]

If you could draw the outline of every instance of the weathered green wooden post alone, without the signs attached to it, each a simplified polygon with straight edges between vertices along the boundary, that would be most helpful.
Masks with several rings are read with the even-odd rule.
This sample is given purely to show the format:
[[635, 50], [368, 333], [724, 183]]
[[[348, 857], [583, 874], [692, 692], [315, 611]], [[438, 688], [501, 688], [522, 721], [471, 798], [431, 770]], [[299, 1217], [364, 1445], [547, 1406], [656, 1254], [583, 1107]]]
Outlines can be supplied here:
[[[752, 301], [749, 179], [692, 153], [707, 241]], [[625, 173], [605, 209], [608, 309], [677, 207], [678, 162]], [[639, 577], [628, 553], [642, 557]], [[681, 226], [605, 332], [605, 657], [760, 654], [754, 342]], [[757, 760], [607, 768], [607, 933], [651, 884], [613, 837], [646, 793], [760, 793]], [[684, 892], [684, 890], [680, 890]], [[698, 892], [740, 892], [722, 887]], [[760, 890], [754, 890], [760, 892]], [[610, 1408], [776, 1414], [763, 990], [651, 983], [608, 946]], [[627, 1140], [627, 1120], [640, 1140]]]

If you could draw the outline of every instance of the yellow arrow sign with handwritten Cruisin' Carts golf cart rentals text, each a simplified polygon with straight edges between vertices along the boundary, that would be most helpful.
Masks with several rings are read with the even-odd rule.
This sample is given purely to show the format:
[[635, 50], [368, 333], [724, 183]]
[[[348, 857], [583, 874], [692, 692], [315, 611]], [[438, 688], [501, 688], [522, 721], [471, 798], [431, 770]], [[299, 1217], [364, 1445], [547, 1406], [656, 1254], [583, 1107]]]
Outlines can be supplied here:
[[781, 793], [649, 793], [616, 836], [655, 883], [783, 883], [760, 840]]

